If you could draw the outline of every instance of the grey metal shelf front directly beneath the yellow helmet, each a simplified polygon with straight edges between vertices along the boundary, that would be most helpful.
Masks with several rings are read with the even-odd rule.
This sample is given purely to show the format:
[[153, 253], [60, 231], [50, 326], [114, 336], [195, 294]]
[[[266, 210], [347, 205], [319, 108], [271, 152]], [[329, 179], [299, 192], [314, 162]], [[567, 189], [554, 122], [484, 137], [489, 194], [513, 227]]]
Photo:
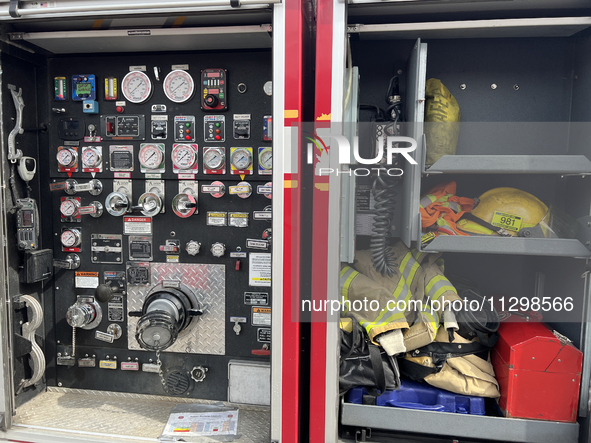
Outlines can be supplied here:
[[427, 246], [423, 246], [421, 250], [425, 252], [472, 252], [576, 258], [591, 257], [591, 251], [579, 240], [561, 238], [441, 235]]

